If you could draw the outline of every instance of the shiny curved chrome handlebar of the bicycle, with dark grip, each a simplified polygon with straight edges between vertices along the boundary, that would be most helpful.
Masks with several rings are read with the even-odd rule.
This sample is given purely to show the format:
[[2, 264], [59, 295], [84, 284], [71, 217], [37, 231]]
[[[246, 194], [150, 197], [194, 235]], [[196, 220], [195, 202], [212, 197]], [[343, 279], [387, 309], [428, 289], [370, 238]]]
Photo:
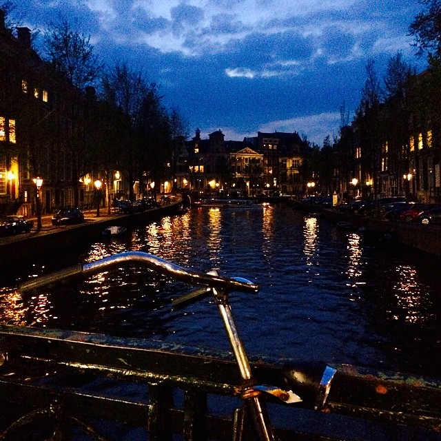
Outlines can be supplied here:
[[40, 276], [20, 285], [20, 290], [33, 291], [50, 285], [52, 283], [59, 283], [61, 280], [73, 278], [81, 274], [87, 276], [88, 274], [96, 274], [105, 271], [110, 267], [118, 265], [127, 265], [131, 263], [141, 263], [145, 267], [153, 269], [154, 271], [170, 276], [175, 280], [194, 285], [204, 285], [206, 287], [213, 287], [224, 291], [240, 291], [247, 293], [257, 293], [259, 286], [252, 283], [245, 278], [226, 278], [216, 274], [200, 273], [185, 269], [175, 263], [165, 260], [163, 258], [154, 256], [153, 254], [144, 252], [124, 252], [114, 254], [113, 256], [105, 257], [101, 260], [96, 260], [83, 265], [76, 265], [74, 267], [62, 269], [45, 276]]

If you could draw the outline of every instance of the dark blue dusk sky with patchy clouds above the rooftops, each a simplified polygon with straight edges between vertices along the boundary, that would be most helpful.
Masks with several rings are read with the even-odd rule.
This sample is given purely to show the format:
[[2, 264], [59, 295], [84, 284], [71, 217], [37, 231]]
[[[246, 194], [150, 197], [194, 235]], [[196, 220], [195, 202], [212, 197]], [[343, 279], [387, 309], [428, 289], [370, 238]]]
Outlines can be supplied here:
[[322, 145], [338, 134], [340, 106], [360, 101], [366, 65], [380, 78], [401, 51], [418, 0], [15, 0], [14, 15], [44, 32], [66, 18], [112, 67], [125, 62], [157, 83], [194, 133], [299, 132]]

